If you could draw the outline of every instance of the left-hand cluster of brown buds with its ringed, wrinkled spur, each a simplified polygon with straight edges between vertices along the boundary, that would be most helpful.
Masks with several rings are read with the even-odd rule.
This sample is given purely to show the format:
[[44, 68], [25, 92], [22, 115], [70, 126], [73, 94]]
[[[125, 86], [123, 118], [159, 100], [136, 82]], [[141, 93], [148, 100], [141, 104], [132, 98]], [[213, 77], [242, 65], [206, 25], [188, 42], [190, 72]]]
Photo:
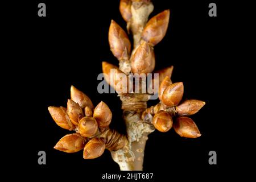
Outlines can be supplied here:
[[54, 147], [56, 150], [73, 153], [84, 149], [84, 159], [94, 159], [105, 148], [112, 151], [125, 145], [125, 136], [109, 129], [112, 112], [108, 105], [100, 102], [94, 108], [90, 98], [74, 86], [67, 108], [50, 106], [48, 110], [57, 125], [76, 131], [61, 138]]

